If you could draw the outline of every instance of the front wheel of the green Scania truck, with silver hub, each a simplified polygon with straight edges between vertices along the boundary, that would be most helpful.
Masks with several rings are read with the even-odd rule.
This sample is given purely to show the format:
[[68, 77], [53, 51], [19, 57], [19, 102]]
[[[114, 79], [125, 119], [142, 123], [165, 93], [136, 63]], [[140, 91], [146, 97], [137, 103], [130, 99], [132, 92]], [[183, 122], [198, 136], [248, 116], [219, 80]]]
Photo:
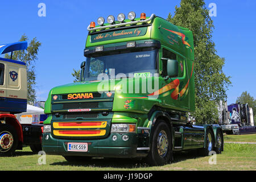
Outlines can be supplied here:
[[152, 133], [150, 152], [146, 163], [152, 166], [162, 166], [173, 161], [172, 135], [166, 122], [158, 121]]

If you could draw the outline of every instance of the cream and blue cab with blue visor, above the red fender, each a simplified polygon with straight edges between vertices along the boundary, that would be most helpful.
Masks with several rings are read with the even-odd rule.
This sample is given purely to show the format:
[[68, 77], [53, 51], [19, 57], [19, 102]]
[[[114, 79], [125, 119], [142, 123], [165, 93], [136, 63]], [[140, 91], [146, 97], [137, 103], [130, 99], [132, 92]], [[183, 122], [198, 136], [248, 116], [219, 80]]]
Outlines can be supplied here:
[[[6, 53], [5, 47], [26, 47], [27, 42], [0, 46], [1, 54]], [[20, 48], [18, 48], [20, 49]], [[14, 50], [13, 50], [14, 51]], [[27, 110], [27, 67], [22, 61], [0, 57], [0, 112], [22, 113]]]

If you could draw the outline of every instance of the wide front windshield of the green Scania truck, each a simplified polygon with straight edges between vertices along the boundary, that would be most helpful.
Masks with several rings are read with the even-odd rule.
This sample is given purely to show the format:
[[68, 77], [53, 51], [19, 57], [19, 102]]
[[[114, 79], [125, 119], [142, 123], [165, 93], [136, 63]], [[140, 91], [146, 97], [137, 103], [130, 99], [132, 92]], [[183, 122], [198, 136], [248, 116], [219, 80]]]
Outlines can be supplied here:
[[154, 73], [157, 73], [157, 55], [156, 48], [90, 55], [86, 57], [85, 81], [97, 80], [101, 73], [108, 76], [118, 74], [126, 77], [154, 76]]

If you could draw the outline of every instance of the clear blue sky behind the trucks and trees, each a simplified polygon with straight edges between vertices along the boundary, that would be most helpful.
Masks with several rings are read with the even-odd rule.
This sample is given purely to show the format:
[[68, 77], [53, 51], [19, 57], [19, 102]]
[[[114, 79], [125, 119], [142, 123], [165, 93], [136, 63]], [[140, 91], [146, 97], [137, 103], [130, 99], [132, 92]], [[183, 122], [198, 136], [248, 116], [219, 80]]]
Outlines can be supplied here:
[[[38, 16], [38, 4], [46, 4], [46, 17]], [[225, 58], [224, 72], [231, 76], [228, 104], [236, 102], [243, 91], [256, 98], [256, 1], [205, 1], [216, 3], [213, 16], [213, 41], [217, 54]], [[36, 60], [37, 99], [46, 101], [48, 92], [57, 85], [73, 82], [73, 68], [84, 60], [83, 50], [88, 34], [86, 28], [97, 18], [135, 11], [147, 16], [167, 18], [174, 15], [180, 0], [158, 1], [1, 1], [0, 44], [17, 42], [23, 34], [36, 37], [42, 46]], [[210, 9], [210, 8], [208, 8]]]

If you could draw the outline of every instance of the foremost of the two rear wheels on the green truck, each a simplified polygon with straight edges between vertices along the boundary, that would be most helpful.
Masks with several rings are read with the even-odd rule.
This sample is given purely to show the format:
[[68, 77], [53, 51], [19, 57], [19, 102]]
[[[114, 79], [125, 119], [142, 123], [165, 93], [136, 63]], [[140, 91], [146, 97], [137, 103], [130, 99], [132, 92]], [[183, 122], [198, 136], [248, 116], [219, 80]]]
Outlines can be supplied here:
[[200, 154], [203, 156], [208, 156], [210, 152], [214, 150], [214, 134], [209, 128], [205, 133], [205, 142], [206, 146], [205, 148], [200, 149]]

